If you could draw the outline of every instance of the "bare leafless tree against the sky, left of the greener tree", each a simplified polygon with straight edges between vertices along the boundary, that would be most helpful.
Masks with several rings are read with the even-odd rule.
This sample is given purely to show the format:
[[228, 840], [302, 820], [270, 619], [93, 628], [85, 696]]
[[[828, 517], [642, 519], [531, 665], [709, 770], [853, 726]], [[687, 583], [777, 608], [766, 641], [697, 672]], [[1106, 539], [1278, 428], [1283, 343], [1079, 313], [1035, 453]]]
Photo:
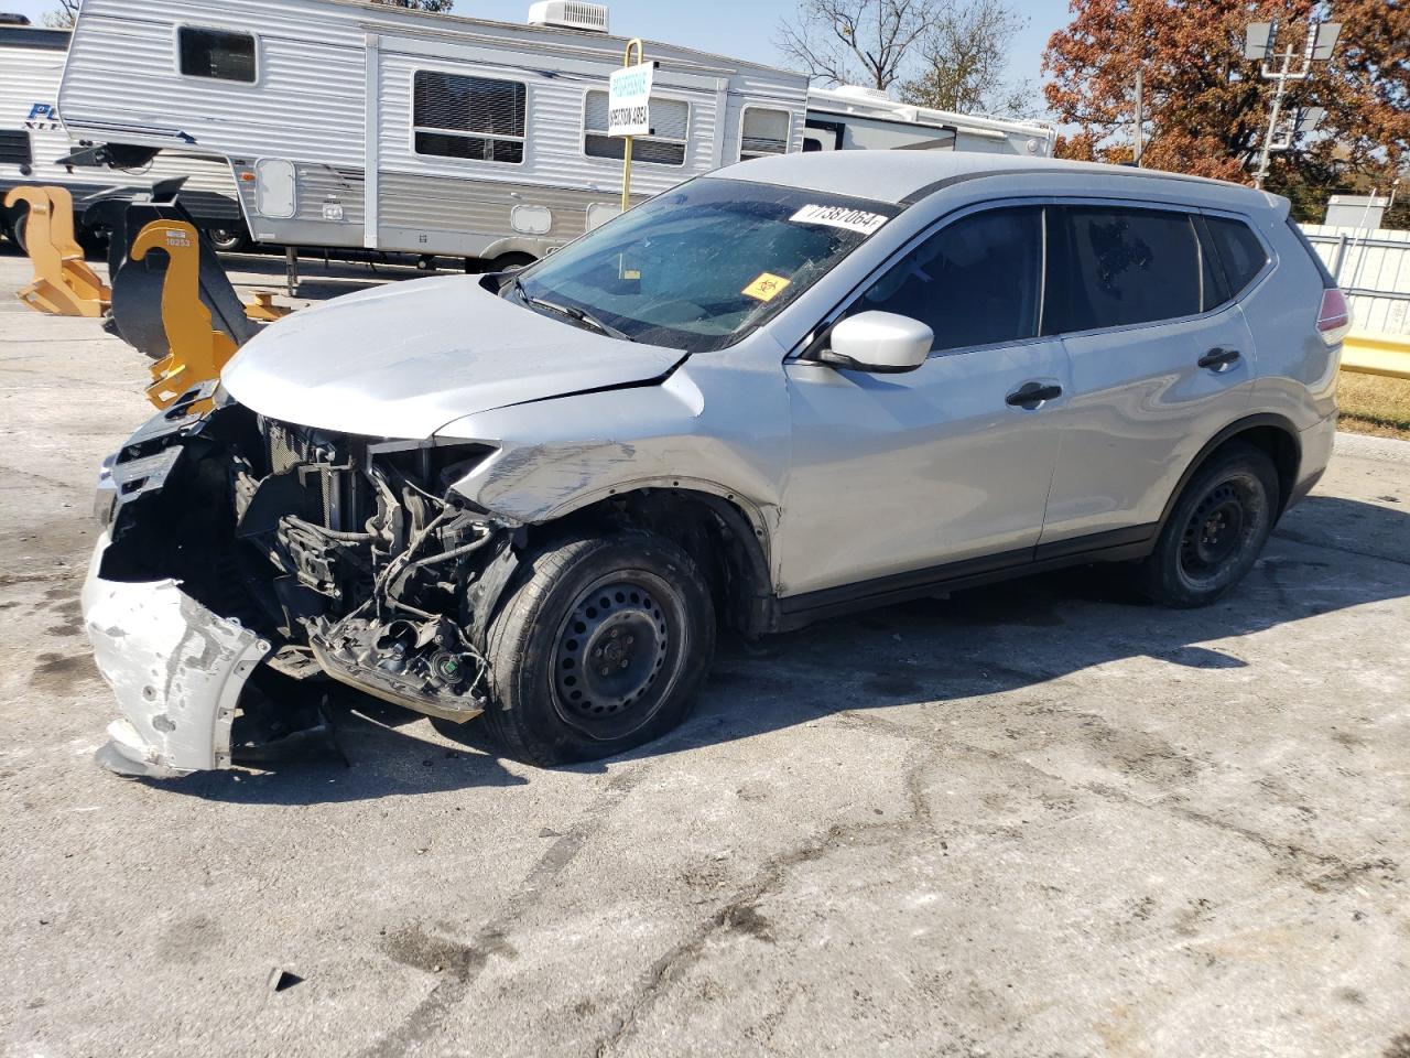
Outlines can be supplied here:
[[774, 44], [818, 80], [885, 90], [933, 24], [933, 0], [802, 0]]

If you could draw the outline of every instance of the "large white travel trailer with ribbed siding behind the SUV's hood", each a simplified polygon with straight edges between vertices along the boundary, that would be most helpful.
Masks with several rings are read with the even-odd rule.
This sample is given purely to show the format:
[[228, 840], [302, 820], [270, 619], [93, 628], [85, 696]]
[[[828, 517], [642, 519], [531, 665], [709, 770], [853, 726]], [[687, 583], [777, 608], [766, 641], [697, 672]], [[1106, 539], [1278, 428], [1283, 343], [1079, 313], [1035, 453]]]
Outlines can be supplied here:
[[[234, 166], [255, 238], [512, 265], [620, 209], [606, 8], [512, 25], [355, 0], [85, 0], [59, 106], [70, 134]], [[667, 44], [637, 200], [802, 148], [807, 79]]]

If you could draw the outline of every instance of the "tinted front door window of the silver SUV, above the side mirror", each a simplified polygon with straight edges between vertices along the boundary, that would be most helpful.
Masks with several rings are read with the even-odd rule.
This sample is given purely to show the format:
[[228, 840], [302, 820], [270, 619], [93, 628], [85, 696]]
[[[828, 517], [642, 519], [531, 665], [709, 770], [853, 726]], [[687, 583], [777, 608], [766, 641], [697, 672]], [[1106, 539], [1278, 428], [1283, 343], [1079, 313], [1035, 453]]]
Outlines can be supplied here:
[[1004, 209], [956, 220], [907, 254], [852, 306], [928, 323], [936, 350], [1038, 334], [1043, 212]]

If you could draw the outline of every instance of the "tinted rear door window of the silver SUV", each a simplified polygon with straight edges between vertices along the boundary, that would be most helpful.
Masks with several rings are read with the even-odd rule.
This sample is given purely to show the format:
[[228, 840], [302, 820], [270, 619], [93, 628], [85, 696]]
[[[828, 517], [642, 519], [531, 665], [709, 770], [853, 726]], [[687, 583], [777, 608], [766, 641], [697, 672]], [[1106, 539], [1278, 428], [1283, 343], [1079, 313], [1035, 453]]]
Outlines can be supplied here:
[[1122, 327], [1201, 312], [1200, 241], [1184, 213], [1062, 210], [1046, 330]]

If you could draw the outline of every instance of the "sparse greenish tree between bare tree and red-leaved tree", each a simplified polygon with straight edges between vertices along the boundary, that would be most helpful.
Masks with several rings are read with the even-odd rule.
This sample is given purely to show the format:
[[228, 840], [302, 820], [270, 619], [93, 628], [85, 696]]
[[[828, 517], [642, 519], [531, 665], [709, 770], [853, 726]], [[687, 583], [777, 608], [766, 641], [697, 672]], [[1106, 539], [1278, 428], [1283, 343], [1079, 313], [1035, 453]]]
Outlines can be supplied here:
[[1026, 25], [1003, 0], [942, 8], [921, 42], [924, 69], [901, 85], [902, 102], [960, 113], [1034, 113], [1034, 85], [1005, 80], [1014, 38]]

